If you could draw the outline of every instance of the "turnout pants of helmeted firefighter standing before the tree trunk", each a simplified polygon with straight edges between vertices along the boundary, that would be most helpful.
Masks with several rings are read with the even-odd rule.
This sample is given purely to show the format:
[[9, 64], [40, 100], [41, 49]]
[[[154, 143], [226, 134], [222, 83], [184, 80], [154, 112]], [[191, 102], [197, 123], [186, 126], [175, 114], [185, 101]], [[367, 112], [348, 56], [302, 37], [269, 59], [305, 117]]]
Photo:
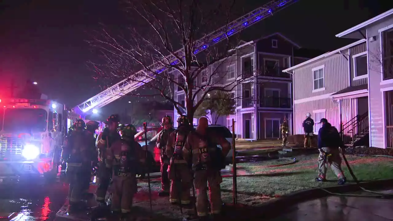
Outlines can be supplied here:
[[169, 202], [177, 203], [180, 199], [181, 204], [189, 204], [192, 177], [187, 163], [172, 163], [168, 175], [172, 181]]

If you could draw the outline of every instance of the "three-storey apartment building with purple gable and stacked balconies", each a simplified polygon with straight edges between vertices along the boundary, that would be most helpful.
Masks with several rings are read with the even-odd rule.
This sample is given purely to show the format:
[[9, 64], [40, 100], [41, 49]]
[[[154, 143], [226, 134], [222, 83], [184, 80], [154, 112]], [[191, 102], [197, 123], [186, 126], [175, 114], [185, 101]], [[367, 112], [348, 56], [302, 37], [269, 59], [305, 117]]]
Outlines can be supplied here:
[[[236, 99], [235, 114], [220, 117], [218, 124], [226, 125], [231, 130], [234, 119], [238, 138], [279, 138], [279, 125], [284, 118], [289, 120], [292, 127], [293, 111], [292, 76], [282, 70], [307, 61], [316, 54], [321, 53], [300, 48], [280, 33], [242, 42], [235, 56], [206, 70], [220, 69], [215, 82], [220, 85], [230, 85], [239, 77], [247, 79], [231, 92]], [[204, 76], [208, 75], [201, 74], [195, 84], [209, 85], [211, 79]], [[184, 102], [184, 92], [180, 88], [175, 89], [174, 93], [178, 102]]]

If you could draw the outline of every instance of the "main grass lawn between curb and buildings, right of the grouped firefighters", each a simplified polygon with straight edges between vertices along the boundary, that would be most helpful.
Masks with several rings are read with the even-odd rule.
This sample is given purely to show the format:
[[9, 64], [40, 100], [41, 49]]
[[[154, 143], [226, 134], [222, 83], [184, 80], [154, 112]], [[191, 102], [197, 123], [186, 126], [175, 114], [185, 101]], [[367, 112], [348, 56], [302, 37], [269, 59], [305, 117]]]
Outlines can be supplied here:
[[[252, 176], [237, 177], [237, 190], [239, 193], [250, 196], [249, 198], [240, 198], [239, 203], [255, 205], [263, 203], [263, 201], [256, 201], [256, 196], [274, 198], [297, 190], [337, 185], [337, 177], [330, 168], [328, 168], [327, 172], [327, 182], [319, 183], [314, 181], [314, 178], [318, 175], [317, 157], [318, 155], [310, 155], [299, 159], [299, 162], [295, 164], [279, 167], [269, 166], [284, 162], [267, 160], [237, 164], [239, 169], [253, 173]], [[393, 173], [391, 172], [393, 171], [393, 159], [391, 158], [347, 156], [347, 159], [355, 176], [361, 182], [393, 178]], [[347, 182], [354, 183], [344, 162], [342, 166]], [[223, 178], [221, 188], [223, 192], [231, 191], [232, 178]]]

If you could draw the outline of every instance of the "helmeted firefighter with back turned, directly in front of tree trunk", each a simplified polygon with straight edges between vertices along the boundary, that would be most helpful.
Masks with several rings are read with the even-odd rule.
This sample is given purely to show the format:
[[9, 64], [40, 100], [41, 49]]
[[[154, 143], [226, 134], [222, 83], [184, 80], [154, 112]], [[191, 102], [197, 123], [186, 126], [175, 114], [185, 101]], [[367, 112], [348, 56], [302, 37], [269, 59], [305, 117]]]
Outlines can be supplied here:
[[166, 154], [171, 158], [168, 169], [168, 177], [172, 181], [169, 201], [187, 205], [190, 203], [192, 176], [190, 168], [183, 158], [182, 151], [190, 132], [190, 124], [187, 116], [184, 115], [177, 119], [177, 123], [178, 129], [169, 134], [166, 145]]

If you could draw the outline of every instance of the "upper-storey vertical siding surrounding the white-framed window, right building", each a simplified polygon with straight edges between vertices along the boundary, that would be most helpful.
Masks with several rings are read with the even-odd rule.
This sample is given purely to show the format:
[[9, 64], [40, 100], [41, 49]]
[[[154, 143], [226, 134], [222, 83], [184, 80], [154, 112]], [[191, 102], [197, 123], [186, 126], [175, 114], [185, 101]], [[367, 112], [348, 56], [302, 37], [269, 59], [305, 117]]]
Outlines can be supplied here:
[[[325, 90], [312, 92], [314, 88], [312, 68], [325, 65]], [[323, 94], [331, 94], [349, 85], [348, 61], [343, 55], [333, 55], [323, 61], [299, 68], [294, 72], [294, 99], [310, 98]]]

